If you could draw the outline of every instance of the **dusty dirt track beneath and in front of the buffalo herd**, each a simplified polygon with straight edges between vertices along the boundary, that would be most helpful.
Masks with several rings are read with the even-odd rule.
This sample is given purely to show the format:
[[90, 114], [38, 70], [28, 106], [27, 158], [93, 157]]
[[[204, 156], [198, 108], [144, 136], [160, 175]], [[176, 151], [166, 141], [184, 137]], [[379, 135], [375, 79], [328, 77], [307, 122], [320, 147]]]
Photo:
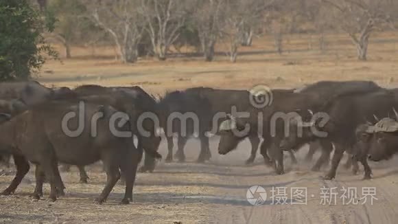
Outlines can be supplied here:
[[[187, 163], [161, 161], [156, 172], [139, 174], [134, 203], [130, 205], [118, 205], [123, 186], [116, 186], [104, 205], [93, 203], [105, 181], [100, 165], [88, 168], [91, 179], [87, 185], [77, 183], [77, 169], [62, 173], [67, 196], [55, 203], [46, 200], [47, 185], [45, 198], [32, 201], [32, 168], [16, 194], [0, 197], [0, 223], [397, 223], [397, 159], [371, 164], [374, 178], [370, 181], [361, 180], [362, 172], [352, 175], [342, 167], [336, 180], [323, 181], [320, 177], [325, 170], [311, 172], [311, 165], [304, 164], [305, 148], [296, 153], [299, 165], [290, 165], [285, 155], [286, 174], [278, 176], [264, 166], [260, 156], [255, 165], [244, 165], [250, 151], [248, 142], [225, 156], [216, 152], [217, 142], [217, 138], [211, 139], [213, 157], [207, 164], [194, 163], [199, 150], [198, 142], [192, 139], [186, 148]], [[165, 156], [166, 152], [163, 142], [160, 153]], [[13, 174], [12, 168], [2, 170], [1, 189], [10, 183]], [[267, 196], [262, 205], [253, 206], [247, 201], [246, 192], [251, 186], [265, 189]], [[304, 199], [291, 194], [297, 188], [307, 190], [307, 204], [297, 204]], [[354, 193], [352, 197], [342, 191], [348, 188]], [[362, 198], [366, 193], [362, 189], [366, 188], [376, 190], [375, 194], [368, 192], [375, 196], [373, 205], [371, 196]], [[256, 192], [253, 197], [260, 195]]]

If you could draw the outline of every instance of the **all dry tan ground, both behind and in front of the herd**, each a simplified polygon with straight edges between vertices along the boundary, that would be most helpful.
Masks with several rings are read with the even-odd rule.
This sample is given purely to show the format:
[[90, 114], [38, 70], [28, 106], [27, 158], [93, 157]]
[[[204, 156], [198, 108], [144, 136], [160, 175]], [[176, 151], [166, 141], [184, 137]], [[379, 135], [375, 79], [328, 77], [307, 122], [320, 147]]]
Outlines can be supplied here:
[[[316, 36], [287, 36], [285, 53], [272, 52], [272, 40], [262, 38], [253, 47], [242, 48], [238, 62], [231, 64], [220, 54], [215, 62], [202, 58], [175, 55], [165, 62], [142, 58], [134, 65], [121, 65], [113, 59], [113, 49], [96, 52], [74, 48], [71, 60], [51, 61], [38, 80], [48, 86], [75, 87], [83, 83], [100, 85], [140, 85], [154, 94], [187, 87], [209, 86], [224, 89], [250, 89], [255, 85], [272, 88], [299, 87], [317, 80], [374, 80], [380, 85], [398, 87], [398, 37], [394, 33], [372, 36], [367, 62], [355, 59], [355, 49], [344, 35], [329, 36], [327, 52], [316, 49]], [[219, 46], [222, 49], [225, 46]], [[93, 56], [94, 55], [94, 56]], [[218, 155], [218, 139], [211, 139], [213, 157], [208, 164], [165, 164], [159, 162], [156, 172], [139, 174], [134, 187], [134, 203], [117, 205], [123, 187], [117, 186], [104, 205], [93, 199], [104, 186], [105, 175], [99, 165], [89, 169], [88, 185], [77, 183], [78, 173], [62, 173], [67, 197], [55, 203], [45, 199], [32, 201], [32, 170], [16, 194], [0, 197], [0, 223], [397, 223], [397, 160], [371, 164], [375, 178], [362, 181], [340, 168], [335, 181], [320, 179], [325, 172], [310, 172], [304, 164], [302, 149], [299, 166], [289, 164], [285, 175], [274, 175], [272, 169], [257, 158], [254, 166], [244, 166], [249, 154], [248, 142], [226, 156]], [[163, 142], [160, 153], [166, 155]], [[187, 160], [195, 161], [198, 142], [190, 140]], [[5, 188], [14, 169], [0, 172], [0, 189]], [[362, 174], [361, 174], [362, 175]], [[253, 185], [306, 187], [307, 205], [270, 205], [268, 198], [261, 206], [246, 201], [246, 190]], [[374, 205], [320, 205], [323, 186], [377, 188]], [[48, 186], [45, 194], [48, 195]], [[359, 193], [360, 194], [360, 193]], [[268, 195], [269, 196], [269, 195]], [[292, 197], [288, 196], [288, 202]]]

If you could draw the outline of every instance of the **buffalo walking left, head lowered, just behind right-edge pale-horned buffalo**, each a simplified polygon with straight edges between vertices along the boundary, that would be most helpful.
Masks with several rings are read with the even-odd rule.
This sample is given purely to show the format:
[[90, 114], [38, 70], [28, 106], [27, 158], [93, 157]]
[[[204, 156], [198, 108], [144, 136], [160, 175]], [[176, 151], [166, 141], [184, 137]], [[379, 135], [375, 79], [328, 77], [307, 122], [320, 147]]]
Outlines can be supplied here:
[[[340, 159], [345, 150], [353, 151], [357, 142], [355, 134], [356, 128], [360, 124], [366, 124], [367, 121], [374, 120], [374, 117], [386, 117], [393, 114], [393, 107], [398, 108], [398, 91], [380, 90], [373, 93], [347, 93], [329, 100], [320, 111], [326, 113], [329, 122], [320, 124], [320, 120], [315, 119], [309, 122], [311, 126], [303, 128], [303, 135], [297, 136], [296, 120], [292, 120], [290, 133], [281, 142], [282, 148], [298, 147], [315, 139], [327, 140], [333, 142], [335, 151], [332, 159], [331, 170], [325, 176], [325, 179], [336, 177], [336, 170]], [[305, 111], [304, 111], [305, 112]], [[311, 117], [308, 114], [301, 114], [301, 117]], [[319, 131], [327, 133], [327, 136], [320, 137], [315, 135], [310, 128], [316, 128]], [[313, 129], [314, 130], [314, 129]], [[366, 159], [360, 158], [365, 170], [365, 177], [370, 178], [370, 168]]]

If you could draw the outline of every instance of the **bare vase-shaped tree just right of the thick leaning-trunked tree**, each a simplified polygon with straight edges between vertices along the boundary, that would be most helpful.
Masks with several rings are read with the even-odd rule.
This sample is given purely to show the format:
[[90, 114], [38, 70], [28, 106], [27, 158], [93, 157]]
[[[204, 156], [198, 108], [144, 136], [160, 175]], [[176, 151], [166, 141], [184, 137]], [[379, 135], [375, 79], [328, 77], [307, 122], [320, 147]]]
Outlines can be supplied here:
[[142, 0], [140, 12], [145, 18], [146, 32], [159, 60], [165, 60], [169, 47], [176, 41], [186, 19], [185, 1]]

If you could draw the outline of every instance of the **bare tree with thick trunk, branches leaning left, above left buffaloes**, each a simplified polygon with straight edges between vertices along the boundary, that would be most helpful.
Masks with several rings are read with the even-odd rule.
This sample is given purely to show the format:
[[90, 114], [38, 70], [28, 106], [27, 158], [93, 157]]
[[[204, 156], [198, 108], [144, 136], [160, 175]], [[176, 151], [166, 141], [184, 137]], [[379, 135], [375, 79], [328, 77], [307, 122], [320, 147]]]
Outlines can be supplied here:
[[123, 63], [138, 59], [138, 44], [143, 34], [145, 20], [137, 10], [138, 0], [84, 1], [89, 18], [104, 29], [117, 47]]

